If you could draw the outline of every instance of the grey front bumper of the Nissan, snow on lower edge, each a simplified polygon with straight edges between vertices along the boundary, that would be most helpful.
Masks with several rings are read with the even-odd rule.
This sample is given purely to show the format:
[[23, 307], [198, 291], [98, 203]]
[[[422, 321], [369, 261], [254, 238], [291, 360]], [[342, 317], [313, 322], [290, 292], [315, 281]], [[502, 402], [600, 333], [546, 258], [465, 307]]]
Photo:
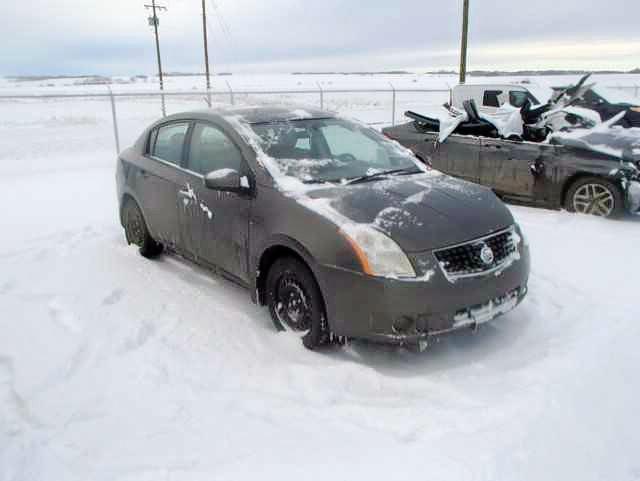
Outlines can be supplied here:
[[416, 344], [477, 327], [514, 309], [527, 294], [529, 248], [498, 273], [451, 282], [440, 268], [423, 280], [382, 279], [321, 268], [321, 287], [337, 336]]

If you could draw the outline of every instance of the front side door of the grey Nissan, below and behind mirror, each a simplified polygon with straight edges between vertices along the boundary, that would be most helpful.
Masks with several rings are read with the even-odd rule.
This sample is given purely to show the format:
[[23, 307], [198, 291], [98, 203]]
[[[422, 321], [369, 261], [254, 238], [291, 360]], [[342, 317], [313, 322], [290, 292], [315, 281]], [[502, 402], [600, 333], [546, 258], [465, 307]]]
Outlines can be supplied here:
[[[193, 183], [191, 206], [198, 215], [196, 255], [207, 264], [248, 282], [249, 215], [251, 198], [246, 194], [220, 192], [204, 185], [204, 176], [221, 169], [233, 169], [245, 176], [250, 171], [238, 146], [224, 131], [207, 122], [196, 122], [190, 134], [186, 169]], [[194, 226], [195, 227], [195, 226]]]

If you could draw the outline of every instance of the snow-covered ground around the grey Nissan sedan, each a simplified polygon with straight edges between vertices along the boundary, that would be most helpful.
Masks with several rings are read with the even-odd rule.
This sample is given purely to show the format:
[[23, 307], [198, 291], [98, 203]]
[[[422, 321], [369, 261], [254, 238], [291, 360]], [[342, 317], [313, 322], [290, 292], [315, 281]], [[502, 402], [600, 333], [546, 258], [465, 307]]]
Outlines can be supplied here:
[[517, 310], [423, 354], [314, 353], [126, 246], [109, 116], [0, 102], [0, 481], [640, 479], [640, 222], [512, 207]]

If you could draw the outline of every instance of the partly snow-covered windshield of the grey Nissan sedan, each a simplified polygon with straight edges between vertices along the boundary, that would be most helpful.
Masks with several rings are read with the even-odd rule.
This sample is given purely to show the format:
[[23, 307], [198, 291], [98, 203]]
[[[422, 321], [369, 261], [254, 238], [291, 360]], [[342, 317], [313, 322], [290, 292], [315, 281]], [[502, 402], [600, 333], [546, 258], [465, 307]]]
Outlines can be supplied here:
[[304, 183], [345, 182], [381, 173], [417, 173], [417, 160], [395, 142], [342, 119], [310, 119], [251, 125], [277, 174]]

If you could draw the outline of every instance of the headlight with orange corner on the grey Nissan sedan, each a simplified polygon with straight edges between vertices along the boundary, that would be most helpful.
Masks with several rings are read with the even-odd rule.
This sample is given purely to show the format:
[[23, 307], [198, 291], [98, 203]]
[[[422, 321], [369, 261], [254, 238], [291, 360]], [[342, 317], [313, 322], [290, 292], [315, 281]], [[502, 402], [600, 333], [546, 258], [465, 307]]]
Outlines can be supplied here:
[[340, 232], [353, 248], [366, 274], [378, 277], [416, 277], [406, 254], [382, 232], [363, 224], [342, 226]]

